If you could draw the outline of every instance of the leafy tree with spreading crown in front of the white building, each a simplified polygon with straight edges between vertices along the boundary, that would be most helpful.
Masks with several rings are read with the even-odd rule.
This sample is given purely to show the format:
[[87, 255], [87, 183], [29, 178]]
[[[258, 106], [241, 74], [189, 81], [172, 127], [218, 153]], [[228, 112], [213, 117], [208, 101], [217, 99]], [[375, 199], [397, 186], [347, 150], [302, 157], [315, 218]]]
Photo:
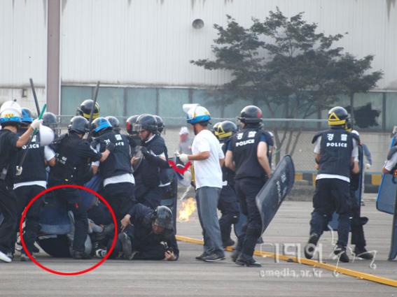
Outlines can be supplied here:
[[[373, 56], [355, 59], [344, 53], [335, 47], [342, 34], [318, 33], [317, 24], [303, 20], [303, 13], [288, 18], [277, 8], [263, 21], [253, 19], [248, 28], [227, 17], [226, 27], [214, 24], [215, 59], [190, 61], [230, 72], [230, 82], [218, 89], [220, 105], [244, 99], [265, 106], [272, 118], [307, 119], [330, 108], [338, 95], [367, 92], [382, 77], [379, 71], [368, 73]], [[274, 126], [279, 150], [293, 154], [303, 128], [304, 123], [294, 122]]]

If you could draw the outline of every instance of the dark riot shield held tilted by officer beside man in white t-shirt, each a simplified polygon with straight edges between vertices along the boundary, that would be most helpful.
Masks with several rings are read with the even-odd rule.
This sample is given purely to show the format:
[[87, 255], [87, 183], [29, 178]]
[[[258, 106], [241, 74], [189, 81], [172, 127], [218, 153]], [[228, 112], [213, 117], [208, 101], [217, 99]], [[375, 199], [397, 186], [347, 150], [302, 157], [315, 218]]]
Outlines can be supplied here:
[[256, 205], [262, 219], [262, 233], [272, 222], [284, 198], [291, 191], [294, 182], [295, 168], [291, 156], [287, 154], [279, 161], [272, 177], [267, 180], [256, 195]]

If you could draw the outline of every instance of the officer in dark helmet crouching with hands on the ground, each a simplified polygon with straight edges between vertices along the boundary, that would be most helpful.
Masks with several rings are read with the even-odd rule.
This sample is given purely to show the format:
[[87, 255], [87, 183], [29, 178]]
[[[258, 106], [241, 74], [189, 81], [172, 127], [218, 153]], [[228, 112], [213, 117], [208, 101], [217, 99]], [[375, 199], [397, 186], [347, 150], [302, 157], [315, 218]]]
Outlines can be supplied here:
[[125, 259], [176, 261], [179, 248], [167, 206], [155, 210], [138, 203], [121, 221], [120, 242]]

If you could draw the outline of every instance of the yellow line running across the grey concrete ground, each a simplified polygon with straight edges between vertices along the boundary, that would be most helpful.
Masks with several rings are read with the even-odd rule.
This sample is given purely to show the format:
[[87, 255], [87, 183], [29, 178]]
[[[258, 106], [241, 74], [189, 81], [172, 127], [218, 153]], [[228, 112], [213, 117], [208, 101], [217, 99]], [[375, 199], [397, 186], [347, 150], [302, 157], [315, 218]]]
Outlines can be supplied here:
[[[183, 242], [189, 242], [189, 243], [194, 243], [196, 245], [203, 245], [204, 242], [203, 240], [200, 239], [195, 239], [195, 238], [190, 238], [190, 237], [186, 237], [186, 236], [176, 236], [176, 240], [179, 241], [183, 241]], [[226, 247], [226, 250], [229, 252], [232, 252], [232, 247]], [[362, 273], [360, 271], [357, 270], [351, 270], [351, 269], [347, 269], [347, 268], [342, 268], [339, 266], [334, 266], [334, 265], [330, 265], [327, 263], [322, 263], [319, 261], [315, 261], [315, 260], [309, 260], [309, 259], [298, 259], [295, 256], [286, 256], [283, 254], [274, 254], [272, 252], [260, 252], [258, 250], [256, 250], [255, 252], [253, 252], [254, 255], [256, 256], [267, 256], [269, 258], [274, 258], [274, 259], [280, 259], [282, 261], [288, 261], [288, 262], [295, 262], [295, 263], [300, 263], [300, 264], [305, 264], [305, 265], [309, 265], [309, 266], [313, 266], [316, 268], [323, 268], [326, 270], [330, 270], [333, 271], [334, 273], [340, 273], [343, 275], [349, 275], [351, 277], [356, 277], [358, 279], [361, 280], [369, 280], [370, 282], [377, 282], [378, 284], [386, 284], [388, 286], [391, 287], [397, 287], [397, 280], [391, 280], [389, 278], [386, 277], [380, 277], [378, 275], [372, 275], [370, 273]]]

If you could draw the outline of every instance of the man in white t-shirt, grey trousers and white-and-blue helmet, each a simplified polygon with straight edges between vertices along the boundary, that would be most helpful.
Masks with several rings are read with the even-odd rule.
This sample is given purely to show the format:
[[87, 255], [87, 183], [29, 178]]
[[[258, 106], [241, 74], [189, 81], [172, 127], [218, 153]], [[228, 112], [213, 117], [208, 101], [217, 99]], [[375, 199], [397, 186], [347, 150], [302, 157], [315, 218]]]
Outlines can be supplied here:
[[210, 119], [208, 110], [202, 106], [188, 110], [187, 122], [195, 131], [193, 154], [181, 154], [179, 158], [183, 163], [194, 161], [197, 212], [204, 235], [204, 252], [196, 259], [214, 262], [225, 259], [216, 212], [222, 189], [221, 165], [225, 156], [218, 140], [207, 129]]

